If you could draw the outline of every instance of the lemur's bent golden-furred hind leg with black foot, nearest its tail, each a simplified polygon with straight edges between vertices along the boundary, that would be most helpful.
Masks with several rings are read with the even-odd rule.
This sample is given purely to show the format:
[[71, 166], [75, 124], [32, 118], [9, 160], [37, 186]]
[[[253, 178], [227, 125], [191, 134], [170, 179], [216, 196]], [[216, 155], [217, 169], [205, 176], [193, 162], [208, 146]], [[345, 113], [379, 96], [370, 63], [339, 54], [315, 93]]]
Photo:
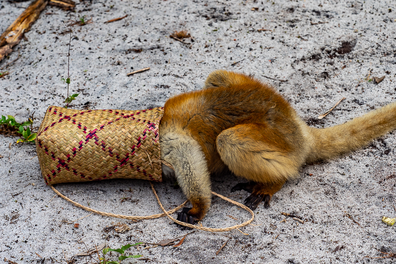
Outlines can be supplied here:
[[[226, 129], [217, 137], [216, 146], [221, 159], [235, 175], [256, 183], [245, 200], [245, 205], [252, 210], [263, 200], [268, 207], [272, 196], [298, 172], [299, 164], [290, 158], [287, 142], [279, 131], [265, 124], [243, 124]], [[234, 188], [244, 187], [249, 184]]]

